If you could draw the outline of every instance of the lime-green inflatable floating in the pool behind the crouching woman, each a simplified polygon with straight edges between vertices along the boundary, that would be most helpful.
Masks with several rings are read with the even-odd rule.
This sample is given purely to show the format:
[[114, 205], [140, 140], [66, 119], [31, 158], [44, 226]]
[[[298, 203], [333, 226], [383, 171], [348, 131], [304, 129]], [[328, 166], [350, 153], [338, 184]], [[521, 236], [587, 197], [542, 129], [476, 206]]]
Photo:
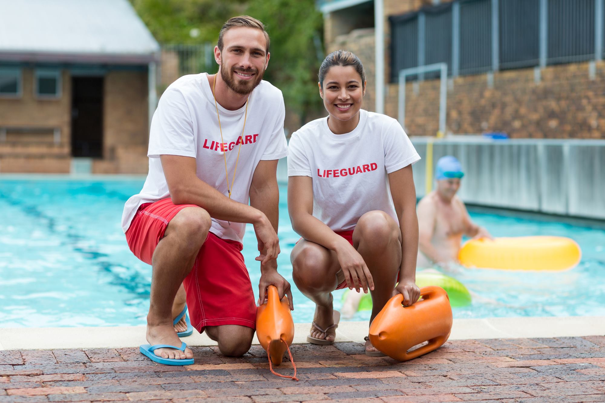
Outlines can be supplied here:
[[[460, 281], [453, 277], [446, 276], [437, 270], [428, 269], [416, 273], [416, 284], [422, 288], [427, 286], [439, 286], [448, 293], [450, 305], [453, 308], [463, 307], [471, 304], [471, 293]], [[347, 299], [350, 290], [345, 290], [342, 294], [342, 303]], [[372, 310], [372, 297], [370, 293], [364, 294], [359, 301], [357, 310]]]

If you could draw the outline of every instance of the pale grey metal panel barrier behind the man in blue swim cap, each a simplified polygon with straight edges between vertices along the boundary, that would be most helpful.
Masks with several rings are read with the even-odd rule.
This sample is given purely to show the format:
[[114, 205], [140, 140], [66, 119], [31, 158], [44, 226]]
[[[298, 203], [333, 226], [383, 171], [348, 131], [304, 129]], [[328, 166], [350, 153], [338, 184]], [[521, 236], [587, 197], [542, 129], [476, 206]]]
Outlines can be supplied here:
[[430, 190], [437, 160], [452, 155], [465, 171], [460, 197], [467, 203], [605, 219], [605, 140], [459, 136], [411, 141], [422, 157], [414, 165], [419, 197]]

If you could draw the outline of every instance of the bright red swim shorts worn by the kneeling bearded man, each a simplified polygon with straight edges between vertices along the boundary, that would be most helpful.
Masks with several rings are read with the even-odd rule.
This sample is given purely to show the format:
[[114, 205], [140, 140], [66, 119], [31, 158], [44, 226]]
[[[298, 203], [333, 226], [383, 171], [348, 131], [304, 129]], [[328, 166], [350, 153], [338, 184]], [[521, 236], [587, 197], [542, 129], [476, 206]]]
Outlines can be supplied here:
[[[186, 207], [200, 208], [175, 205], [170, 198], [141, 205], [126, 231], [132, 253], [151, 264], [168, 223]], [[226, 324], [255, 328], [257, 307], [242, 248], [241, 243], [221, 239], [212, 232], [201, 246], [191, 272], [183, 281], [191, 324], [198, 332], [203, 332], [206, 326]]]

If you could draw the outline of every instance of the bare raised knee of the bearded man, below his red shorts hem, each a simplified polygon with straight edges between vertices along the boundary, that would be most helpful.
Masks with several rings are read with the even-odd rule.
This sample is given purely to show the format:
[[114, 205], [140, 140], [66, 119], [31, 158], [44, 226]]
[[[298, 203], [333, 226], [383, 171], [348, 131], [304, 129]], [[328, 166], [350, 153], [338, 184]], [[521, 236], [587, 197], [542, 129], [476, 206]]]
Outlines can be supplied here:
[[166, 236], [182, 240], [192, 251], [200, 249], [208, 237], [212, 220], [210, 214], [203, 208], [186, 207], [172, 218], [166, 228]]

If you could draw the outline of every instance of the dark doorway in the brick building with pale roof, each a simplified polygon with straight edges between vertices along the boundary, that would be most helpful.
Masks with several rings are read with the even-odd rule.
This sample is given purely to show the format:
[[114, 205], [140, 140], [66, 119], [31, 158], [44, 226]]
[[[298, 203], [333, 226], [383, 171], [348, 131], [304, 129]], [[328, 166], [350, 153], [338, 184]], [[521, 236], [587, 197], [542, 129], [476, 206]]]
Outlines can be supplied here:
[[103, 156], [103, 77], [71, 79], [71, 155]]

